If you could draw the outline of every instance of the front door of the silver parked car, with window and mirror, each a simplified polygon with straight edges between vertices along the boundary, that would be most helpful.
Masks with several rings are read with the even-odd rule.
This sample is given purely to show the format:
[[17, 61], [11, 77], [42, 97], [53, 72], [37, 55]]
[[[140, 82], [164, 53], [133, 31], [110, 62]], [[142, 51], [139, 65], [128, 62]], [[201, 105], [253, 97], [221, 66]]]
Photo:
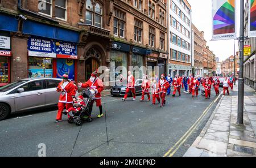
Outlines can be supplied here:
[[24, 92], [18, 93], [17, 89], [14, 94], [14, 102], [16, 111], [34, 109], [36, 107], [44, 107], [45, 97], [43, 93], [43, 81], [30, 81], [22, 85]]

